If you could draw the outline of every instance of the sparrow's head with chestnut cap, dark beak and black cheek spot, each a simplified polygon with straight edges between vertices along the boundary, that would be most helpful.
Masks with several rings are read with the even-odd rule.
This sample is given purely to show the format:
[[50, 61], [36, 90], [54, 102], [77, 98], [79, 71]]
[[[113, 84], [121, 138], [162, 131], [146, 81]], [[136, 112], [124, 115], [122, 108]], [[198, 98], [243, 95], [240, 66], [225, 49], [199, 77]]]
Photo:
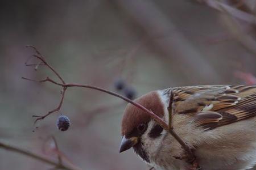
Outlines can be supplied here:
[[[159, 117], [164, 116], [164, 104], [158, 91], [143, 95], [135, 99], [135, 102], [143, 105], [143, 107], [151, 110]], [[162, 131], [163, 128], [146, 112], [132, 104], [127, 104], [122, 118], [122, 141], [119, 152], [133, 147], [137, 155], [149, 163], [150, 151], [154, 150], [152, 146], [157, 147], [156, 144], [159, 143]]]

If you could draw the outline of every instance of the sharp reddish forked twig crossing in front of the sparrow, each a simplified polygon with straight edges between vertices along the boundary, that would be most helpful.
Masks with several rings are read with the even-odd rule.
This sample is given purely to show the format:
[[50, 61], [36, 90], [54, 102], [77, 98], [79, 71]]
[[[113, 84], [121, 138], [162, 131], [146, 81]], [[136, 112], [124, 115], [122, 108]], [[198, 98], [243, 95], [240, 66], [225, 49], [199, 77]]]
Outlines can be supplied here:
[[167, 130], [177, 140], [177, 142], [180, 143], [181, 147], [186, 152], [185, 153], [185, 155], [187, 155], [186, 156], [186, 158], [187, 158], [186, 161], [189, 164], [192, 164], [192, 165], [196, 163], [195, 162], [196, 157], [193, 154], [192, 150], [187, 146], [187, 144], [185, 142], [183, 142], [183, 140], [179, 137], [179, 135], [177, 135], [175, 133], [174, 126], [172, 124], [172, 103], [173, 103], [173, 98], [174, 98], [174, 94], [173, 94], [172, 91], [171, 91], [171, 95], [170, 95], [169, 105], [168, 105], [168, 108], [167, 108], [168, 112], [169, 112], [169, 123], [167, 125], [167, 123], [162, 118], [157, 116], [154, 112], [152, 112], [151, 110], [148, 110], [147, 108], [143, 107], [143, 105], [138, 104], [135, 101], [128, 99], [125, 96], [119, 95], [119, 94], [117, 94], [115, 92], [112, 92], [112, 91], [109, 91], [109, 90], [105, 90], [104, 88], [100, 88], [100, 87], [96, 87], [96, 86], [90, 86], [88, 84], [65, 83], [64, 79], [60, 76], [60, 74], [57, 73], [57, 71], [51, 65], [49, 65], [49, 63], [46, 61], [46, 59], [42, 56], [42, 54], [34, 46], [29, 45], [27, 47], [32, 48], [32, 49], [35, 50], [36, 54], [32, 55], [32, 57], [35, 57], [35, 58], [39, 59], [40, 62], [38, 64], [27, 64], [27, 62], [28, 62], [27, 61], [25, 63], [26, 66], [35, 66], [35, 70], [38, 69], [38, 67], [40, 65], [46, 66], [57, 76], [57, 78], [59, 79], [60, 82], [56, 82], [52, 78], [49, 78], [49, 76], [47, 76], [45, 79], [42, 79], [42, 80], [34, 80], [34, 79], [30, 79], [30, 78], [25, 78], [25, 77], [22, 77], [22, 79], [30, 80], [32, 82], [39, 82], [39, 83], [50, 82], [52, 84], [55, 84], [55, 85], [61, 87], [61, 98], [60, 98], [60, 102], [59, 102], [59, 105], [57, 106], [57, 108], [53, 109], [52, 111], [49, 111], [47, 114], [45, 114], [43, 116], [33, 115], [32, 117], [36, 117], [36, 120], [35, 120], [34, 123], [36, 123], [39, 120], [43, 120], [44, 118], [46, 118], [47, 116], [49, 116], [50, 114], [52, 114], [54, 112], [59, 112], [60, 111], [61, 106], [63, 105], [63, 100], [64, 100], [64, 97], [65, 97], [65, 91], [67, 90], [68, 87], [90, 88], [90, 89], [94, 89], [94, 90], [97, 90], [97, 91], [102, 91], [102, 92], [105, 92], [106, 94], [118, 97], [122, 100], [127, 101], [130, 104], [133, 104], [135, 107], [137, 107], [139, 109], [142, 109], [144, 112], [146, 112], [146, 114], [148, 114], [149, 116], [154, 118], [154, 120], [156, 122], [158, 122], [158, 124], [160, 126], [162, 126], [165, 130]]

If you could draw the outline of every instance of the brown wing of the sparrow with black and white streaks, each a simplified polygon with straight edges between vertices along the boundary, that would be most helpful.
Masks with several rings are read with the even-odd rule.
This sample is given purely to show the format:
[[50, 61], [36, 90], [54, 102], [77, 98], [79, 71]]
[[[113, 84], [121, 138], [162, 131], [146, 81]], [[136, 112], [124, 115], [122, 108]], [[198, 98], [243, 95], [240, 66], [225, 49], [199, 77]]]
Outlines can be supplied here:
[[172, 90], [175, 113], [193, 114], [197, 124], [208, 130], [256, 116], [256, 86], [192, 86]]

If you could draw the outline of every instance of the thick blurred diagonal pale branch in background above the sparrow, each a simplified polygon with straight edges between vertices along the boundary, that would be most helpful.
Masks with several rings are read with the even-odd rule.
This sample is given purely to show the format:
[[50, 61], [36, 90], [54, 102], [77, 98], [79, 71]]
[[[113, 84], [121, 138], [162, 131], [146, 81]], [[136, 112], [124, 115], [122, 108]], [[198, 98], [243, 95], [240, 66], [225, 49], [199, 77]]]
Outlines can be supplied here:
[[[191, 71], [185, 74], [195, 79], [200, 76], [200, 78], [214, 83], [219, 81], [219, 76], [213, 67], [201, 57], [201, 54], [192, 47], [189, 41], [175, 28], [170, 19], [167, 19], [157, 8], [154, 2], [147, 1], [147, 3], [144, 3], [134, 0], [118, 0], [115, 2], [151, 37], [151, 41], [166, 56], [174, 58], [175, 61], [181, 62], [184, 67], [195, 72], [195, 75], [191, 75]], [[156, 39], [158, 37], [163, 37], [163, 39]]]

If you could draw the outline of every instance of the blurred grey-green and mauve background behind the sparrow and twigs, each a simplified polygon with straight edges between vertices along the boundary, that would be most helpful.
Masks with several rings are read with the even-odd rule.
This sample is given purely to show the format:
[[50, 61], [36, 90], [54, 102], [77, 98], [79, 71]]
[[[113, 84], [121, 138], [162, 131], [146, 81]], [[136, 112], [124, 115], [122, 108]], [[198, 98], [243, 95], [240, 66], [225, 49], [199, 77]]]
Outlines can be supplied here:
[[[255, 1], [1, 1], [0, 142], [81, 169], [149, 169], [119, 154], [126, 103], [102, 92], [21, 79], [56, 79], [25, 66], [34, 45], [65, 82], [92, 84], [131, 99], [198, 84], [255, 84]], [[29, 63], [38, 63], [31, 59]], [[57, 80], [57, 79], [56, 79]], [[122, 91], [118, 88], [122, 84]], [[71, 128], [59, 131], [60, 113]], [[51, 138], [54, 136], [60, 151]], [[0, 169], [52, 166], [0, 148]]]

